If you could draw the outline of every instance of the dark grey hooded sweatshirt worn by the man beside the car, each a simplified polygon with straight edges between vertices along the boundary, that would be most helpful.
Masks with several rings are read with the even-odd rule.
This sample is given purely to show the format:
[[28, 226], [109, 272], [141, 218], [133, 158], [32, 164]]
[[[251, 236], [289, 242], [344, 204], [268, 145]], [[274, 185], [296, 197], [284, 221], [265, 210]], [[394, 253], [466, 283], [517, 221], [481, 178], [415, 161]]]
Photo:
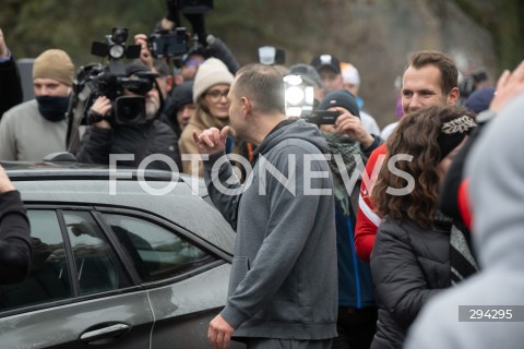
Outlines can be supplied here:
[[248, 184], [237, 194], [213, 184], [219, 179], [228, 190], [239, 188], [227, 181], [229, 164], [212, 171], [221, 155], [204, 161], [210, 196], [237, 231], [221, 313], [235, 328], [234, 338], [336, 336], [336, 232], [326, 151], [317, 127], [283, 121], [257, 148]]

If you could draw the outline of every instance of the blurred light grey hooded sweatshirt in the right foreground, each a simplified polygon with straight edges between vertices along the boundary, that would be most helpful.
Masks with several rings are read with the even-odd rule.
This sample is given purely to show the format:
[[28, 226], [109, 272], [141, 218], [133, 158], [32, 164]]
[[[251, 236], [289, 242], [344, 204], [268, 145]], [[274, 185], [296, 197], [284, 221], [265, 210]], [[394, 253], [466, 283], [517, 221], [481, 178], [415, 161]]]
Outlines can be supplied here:
[[[524, 346], [523, 110], [521, 94], [486, 125], [466, 161], [480, 272], [428, 302], [405, 348]], [[468, 305], [461, 315], [469, 322], [458, 321], [460, 305]]]

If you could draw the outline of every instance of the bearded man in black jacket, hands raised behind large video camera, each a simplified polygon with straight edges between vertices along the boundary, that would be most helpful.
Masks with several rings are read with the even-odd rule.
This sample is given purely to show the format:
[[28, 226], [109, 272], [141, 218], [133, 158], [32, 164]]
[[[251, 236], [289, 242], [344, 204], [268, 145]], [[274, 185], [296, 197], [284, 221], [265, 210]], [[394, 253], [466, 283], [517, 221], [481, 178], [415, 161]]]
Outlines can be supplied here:
[[[126, 67], [128, 77], [143, 73], [151, 73], [151, 70], [139, 63]], [[118, 154], [119, 166], [136, 168], [146, 157], [155, 155], [157, 160], [152, 161], [148, 168], [175, 170], [174, 164], [181, 168], [177, 135], [159, 120], [162, 106], [158, 87], [153, 85], [145, 94], [124, 89], [123, 95], [145, 98], [145, 120], [116, 122], [111, 100], [106, 96], [98, 97], [87, 112], [92, 124], [82, 137], [76, 159], [80, 163], [108, 165], [110, 155]]]

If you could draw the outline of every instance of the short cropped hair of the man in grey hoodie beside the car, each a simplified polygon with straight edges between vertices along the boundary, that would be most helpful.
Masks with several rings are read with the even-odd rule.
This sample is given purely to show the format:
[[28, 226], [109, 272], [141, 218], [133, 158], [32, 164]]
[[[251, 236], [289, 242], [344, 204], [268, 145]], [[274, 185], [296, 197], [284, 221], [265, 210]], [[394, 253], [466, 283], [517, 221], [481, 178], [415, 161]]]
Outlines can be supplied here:
[[240, 68], [233, 94], [248, 97], [261, 112], [285, 113], [284, 75], [272, 65], [251, 63]]

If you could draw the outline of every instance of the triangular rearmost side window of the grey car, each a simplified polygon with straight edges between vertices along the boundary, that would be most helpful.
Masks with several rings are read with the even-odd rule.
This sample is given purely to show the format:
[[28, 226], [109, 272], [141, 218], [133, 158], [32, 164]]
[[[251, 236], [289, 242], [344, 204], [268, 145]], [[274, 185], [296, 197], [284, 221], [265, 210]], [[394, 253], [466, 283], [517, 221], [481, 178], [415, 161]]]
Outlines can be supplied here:
[[116, 214], [105, 217], [144, 281], [180, 275], [216, 260], [148, 220]]

